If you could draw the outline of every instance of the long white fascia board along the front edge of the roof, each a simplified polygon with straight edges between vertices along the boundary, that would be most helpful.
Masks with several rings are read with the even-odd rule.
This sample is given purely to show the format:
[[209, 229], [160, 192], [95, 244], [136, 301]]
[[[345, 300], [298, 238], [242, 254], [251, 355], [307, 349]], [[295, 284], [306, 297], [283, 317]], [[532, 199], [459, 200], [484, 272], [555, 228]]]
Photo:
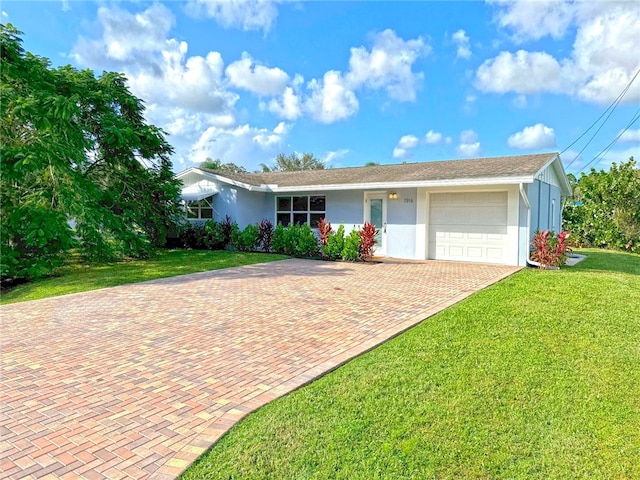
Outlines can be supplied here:
[[411, 182], [377, 182], [377, 183], [343, 183], [331, 185], [301, 185], [291, 187], [278, 187], [277, 185], [262, 185], [267, 191], [276, 193], [285, 192], [316, 192], [330, 190], [375, 190], [375, 189], [400, 189], [420, 187], [452, 187], [452, 186], [476, 186], [476, 185], [510, 185], [520, 183], [533, 183], [534, 178], [526, 177], [486, 177], [486, 178], [458, 178], [451, 180], [422, 180]]

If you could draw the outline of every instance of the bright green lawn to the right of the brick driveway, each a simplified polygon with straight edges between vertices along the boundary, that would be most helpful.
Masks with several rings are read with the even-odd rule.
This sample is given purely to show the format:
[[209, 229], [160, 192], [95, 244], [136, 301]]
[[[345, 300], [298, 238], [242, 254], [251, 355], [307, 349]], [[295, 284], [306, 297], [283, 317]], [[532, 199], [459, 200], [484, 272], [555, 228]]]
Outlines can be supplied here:
[[640, 256], [581, 253], [261, 408], [183, 480], [640, 478]]

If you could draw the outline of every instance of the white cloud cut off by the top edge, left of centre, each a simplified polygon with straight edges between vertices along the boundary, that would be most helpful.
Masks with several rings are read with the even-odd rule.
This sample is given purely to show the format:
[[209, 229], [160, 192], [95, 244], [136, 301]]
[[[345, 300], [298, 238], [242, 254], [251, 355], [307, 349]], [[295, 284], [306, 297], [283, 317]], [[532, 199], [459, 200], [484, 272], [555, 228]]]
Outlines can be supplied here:
[[268, 32], [278, 17], [272, 0], [190, 0], [187, 12], [195, 17], [213, 18], [223, 27]]

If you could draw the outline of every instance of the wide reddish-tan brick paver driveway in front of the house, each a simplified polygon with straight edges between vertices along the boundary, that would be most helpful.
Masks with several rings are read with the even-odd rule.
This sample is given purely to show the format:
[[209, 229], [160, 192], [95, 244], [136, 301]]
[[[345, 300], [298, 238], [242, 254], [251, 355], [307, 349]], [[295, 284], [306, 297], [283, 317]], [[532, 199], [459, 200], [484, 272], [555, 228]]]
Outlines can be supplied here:
[[5, 478], [174, 478], [247, 412], [517, 268], [285, 260], [0, 308]]

